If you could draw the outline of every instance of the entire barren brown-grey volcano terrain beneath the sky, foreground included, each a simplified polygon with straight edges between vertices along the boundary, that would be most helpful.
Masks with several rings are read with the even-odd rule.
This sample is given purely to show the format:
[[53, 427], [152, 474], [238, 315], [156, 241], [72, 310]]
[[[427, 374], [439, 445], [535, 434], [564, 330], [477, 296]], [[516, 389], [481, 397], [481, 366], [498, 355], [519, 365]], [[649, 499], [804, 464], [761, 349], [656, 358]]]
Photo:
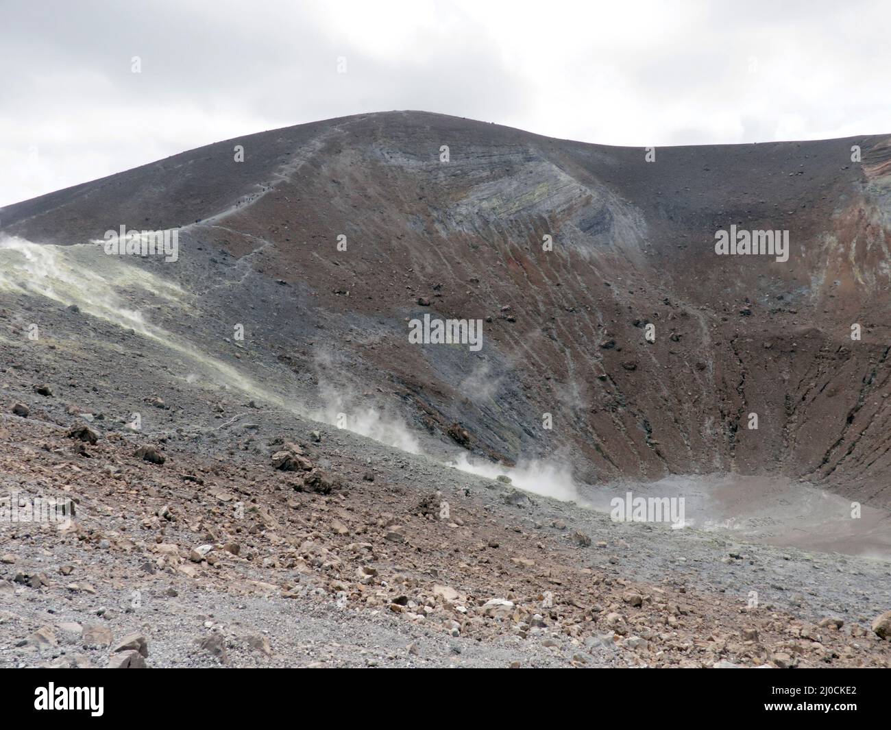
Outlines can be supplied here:
[[[77, 516], [0, 528], [0, 663], [139, 663], [139, 631], [154, 666], [887, 666], [888, 160], [390, 112], [7, 207], [3, 488]], [[119, 226], [176, 260], [107, 255]], [[730, 226], [788, 260], [716, 255]], [[713, 477], [868, 539], [576, 504]]]

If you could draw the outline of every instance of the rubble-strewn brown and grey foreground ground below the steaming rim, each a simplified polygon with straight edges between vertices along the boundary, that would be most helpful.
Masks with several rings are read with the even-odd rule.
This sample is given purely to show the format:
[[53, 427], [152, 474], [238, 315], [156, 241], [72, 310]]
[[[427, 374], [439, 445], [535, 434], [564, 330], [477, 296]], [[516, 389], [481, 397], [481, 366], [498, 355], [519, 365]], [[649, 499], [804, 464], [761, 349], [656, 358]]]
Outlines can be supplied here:
[[891, 667], [887, 562], [617, 524], [282, 414], [197, 453], [20, 405], [4, 491], [75, 514], [0, 532], [0, 666]]

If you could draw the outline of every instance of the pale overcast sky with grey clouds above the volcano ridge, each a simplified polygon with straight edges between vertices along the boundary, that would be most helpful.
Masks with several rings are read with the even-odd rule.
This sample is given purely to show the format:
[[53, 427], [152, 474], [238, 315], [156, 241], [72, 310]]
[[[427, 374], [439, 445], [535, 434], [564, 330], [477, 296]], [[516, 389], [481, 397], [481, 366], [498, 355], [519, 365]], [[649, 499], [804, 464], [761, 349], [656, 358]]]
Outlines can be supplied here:
[[881, 134], [889, 69], [881, 0], [0, 0], [0, 205], [366, 111], [639, 146]]

